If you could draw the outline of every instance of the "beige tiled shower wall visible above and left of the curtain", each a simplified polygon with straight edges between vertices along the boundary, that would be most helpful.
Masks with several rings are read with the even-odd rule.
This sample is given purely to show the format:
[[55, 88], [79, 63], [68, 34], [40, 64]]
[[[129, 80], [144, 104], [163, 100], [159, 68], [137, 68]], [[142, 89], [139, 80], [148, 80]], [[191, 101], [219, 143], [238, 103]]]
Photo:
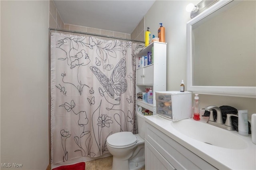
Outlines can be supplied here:
[[[62, 21], [60, 14], [58, 10], [56, 9], [56, 6], [53, 2], [53, 0], [49, 0], [49, 27], [50, 28], [57, 28], [57, 29], [62, 29], [62, 30], [72, 30], [72, 31], [78, 31], [78, 32], [88, 32], [92, 34], [99, 34], [99, 35], [104, 35], [104, 36], [111, 36], [111, 37], [118, 37], [118, 38], [126, 38], [126, 39], [132, 39], [132, 40], [139, 40], [139, 41], [144, 41], [144, 17], [136, 26], [132, 34], [126, 34], [126, 33], [121, 33], [121, 32], [114, 32], [114, 31], [109, 31], [109, 30], [101, 30], [97, 28], [90, 28], [90, 27], [84, 27], [84, 26], [74, 26], [70, 24], [64, 24]], [[55, 32], [55, 31], [52, 31]], [[77, 36], [82, 36], [81, 34], [76, 34], [76, 33], [70, 33], [70, 32], [61, 32], [64, 34], [74, 34]], [[112, 40], [112, 38], [104, 38], [104, 37], [97, 37], [102, 40]], [[49, 71], [48, 71], [48, 115], [49, 115], [49, 146], [51, 143], [51, 136], [50, 136], [50, 43], [51, 43], [51, 35], [49, 32]], [[50, 150], [50, 148], [49, 148]], [[49, 151], [49, 158], [51, 158], [51, 152]], [[50, 162], [50, 160], [49, 160]]]

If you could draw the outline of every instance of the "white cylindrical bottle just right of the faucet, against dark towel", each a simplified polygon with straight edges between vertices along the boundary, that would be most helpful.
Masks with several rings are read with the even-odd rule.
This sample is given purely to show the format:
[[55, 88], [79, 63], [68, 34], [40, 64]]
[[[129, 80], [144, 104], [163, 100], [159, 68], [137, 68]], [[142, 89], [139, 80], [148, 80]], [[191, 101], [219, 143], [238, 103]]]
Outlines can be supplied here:
[[238, 134], [248, 136], [248, 110], [238, 111]]

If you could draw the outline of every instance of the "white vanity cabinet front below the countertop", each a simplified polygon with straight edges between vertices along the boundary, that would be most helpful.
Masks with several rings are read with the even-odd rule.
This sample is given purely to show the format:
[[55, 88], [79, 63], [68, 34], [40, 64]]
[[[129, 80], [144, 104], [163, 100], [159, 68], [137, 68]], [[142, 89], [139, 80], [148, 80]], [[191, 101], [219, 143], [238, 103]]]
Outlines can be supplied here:
[[145, 122], [145, 169], [216, 170], [214, 166]]

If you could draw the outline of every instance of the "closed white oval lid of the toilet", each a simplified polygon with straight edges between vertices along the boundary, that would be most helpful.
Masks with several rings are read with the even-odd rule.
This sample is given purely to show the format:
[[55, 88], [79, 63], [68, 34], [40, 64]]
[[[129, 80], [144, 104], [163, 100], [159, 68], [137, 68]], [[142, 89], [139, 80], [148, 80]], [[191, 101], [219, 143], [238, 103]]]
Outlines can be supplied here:
[[137, 138], [132, 132], [118, 132], [108, 136], [107, 142], [114, 148], [130, 147], [136, 144]]

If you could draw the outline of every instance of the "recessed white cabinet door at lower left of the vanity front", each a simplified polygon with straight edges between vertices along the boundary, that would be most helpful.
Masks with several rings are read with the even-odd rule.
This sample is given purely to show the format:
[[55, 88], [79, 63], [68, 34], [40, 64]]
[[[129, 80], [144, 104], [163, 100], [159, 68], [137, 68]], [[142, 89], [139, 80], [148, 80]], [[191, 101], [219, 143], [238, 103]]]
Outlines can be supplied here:
[[145, 139], [145, 169], [146, 170], [176, 170], [148, 140]]

